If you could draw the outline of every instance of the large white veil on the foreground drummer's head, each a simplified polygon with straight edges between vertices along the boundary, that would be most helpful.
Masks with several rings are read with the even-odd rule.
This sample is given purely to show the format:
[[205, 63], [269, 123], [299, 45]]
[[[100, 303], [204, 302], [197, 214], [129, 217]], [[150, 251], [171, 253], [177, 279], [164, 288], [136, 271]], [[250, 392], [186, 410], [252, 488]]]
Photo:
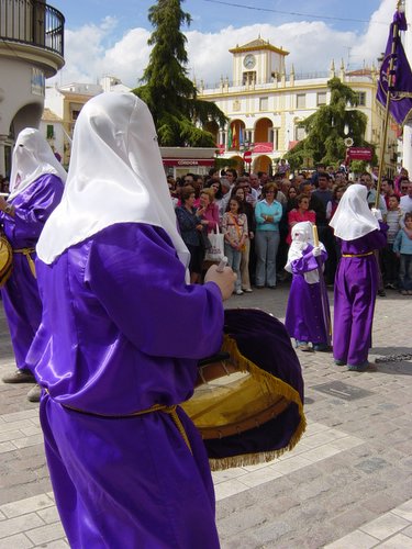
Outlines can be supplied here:
[[46, 264], [115, 223], [163, 227], [187, 267], [190, 254], [177, 229], [156, 130], [147, 105], [131, 92], [88, 101], [76, 122], [62, 202], [36, 247]]

